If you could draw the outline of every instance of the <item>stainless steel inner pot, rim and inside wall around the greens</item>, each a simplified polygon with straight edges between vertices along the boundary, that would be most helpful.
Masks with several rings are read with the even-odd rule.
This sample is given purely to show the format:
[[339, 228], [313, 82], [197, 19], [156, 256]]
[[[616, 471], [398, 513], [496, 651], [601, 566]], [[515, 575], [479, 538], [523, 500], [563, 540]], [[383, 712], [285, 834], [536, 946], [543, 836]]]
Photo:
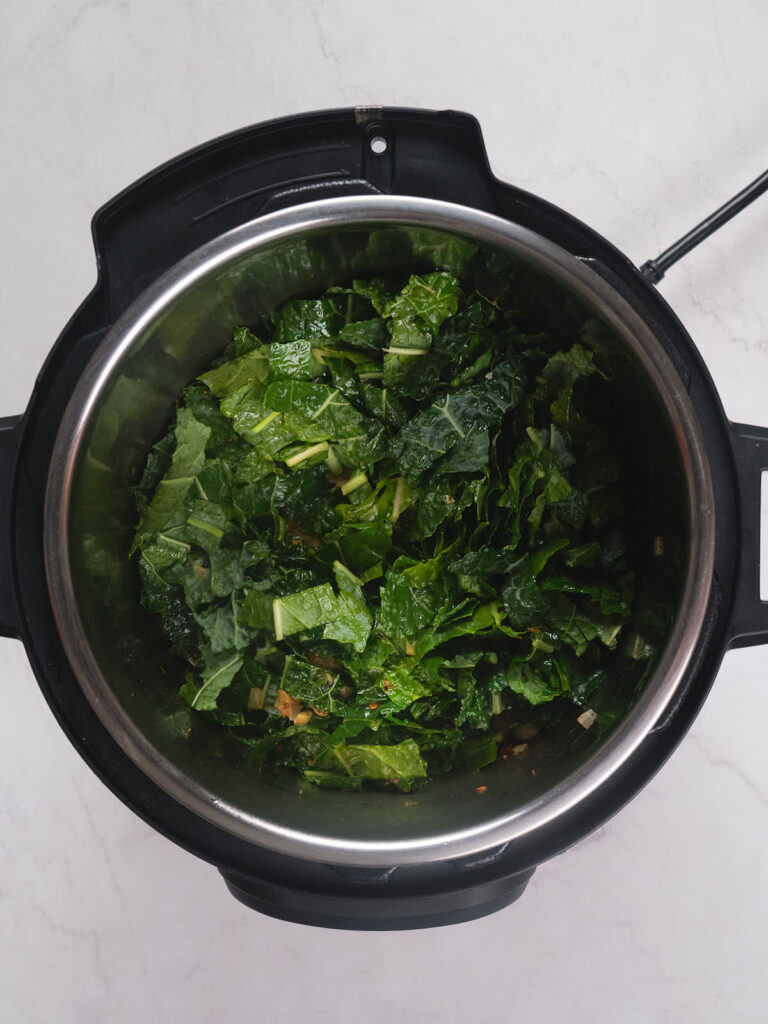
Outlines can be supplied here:
[[[678, 613], [655, 672], [601, 742], [543, 750], [477, 776], [442, 776], [415, 794], [315, 790], [298, 775], [239, 765], [175, 696], [183, 677], [139, 606], [128, 550], [131, 486], [179, 388], [288, 298], [392, 269], [449, 265], [452, 240], [525, 267], [602, 321], [647, 393], [684, 509]], [[400, 253], [401, 255], [398, 255]], [[670, 496], [670, 500], [673, 496]], [[648, 326], [589, 265], [542, 237], [474, 209], [427, 199], [353, 197], [292, 207], [204, 246], [158, 280], [111, 329], [60, 424], [45, 503], [45, 559], [61, 641], [104, 727], [180, 804], [247, 841], [328, 863], [404, 865], [465, 856], [554, 821], [593, 794], [664, 715], [696, 645], [712, 584], [714, 503], [683, 384]], [[191, 729], [191, 732], [189, 731]], [[220, 730], [218, 730], [220, 732]], [[531, 768], [535, 773], [531, 772]]]

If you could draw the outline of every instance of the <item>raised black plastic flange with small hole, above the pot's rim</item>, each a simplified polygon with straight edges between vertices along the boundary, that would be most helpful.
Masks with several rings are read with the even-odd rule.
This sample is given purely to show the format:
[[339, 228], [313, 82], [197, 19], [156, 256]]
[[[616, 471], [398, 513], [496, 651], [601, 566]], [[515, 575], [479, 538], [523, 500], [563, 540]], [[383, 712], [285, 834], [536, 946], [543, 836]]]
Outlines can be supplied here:
[[358, 106], [267, 121], [182, 154], [95, 214], [103, 300], [114, 323], [195, 249], [287, 206], [383, 193], [496, 210], [495, 188], [468, 114]]

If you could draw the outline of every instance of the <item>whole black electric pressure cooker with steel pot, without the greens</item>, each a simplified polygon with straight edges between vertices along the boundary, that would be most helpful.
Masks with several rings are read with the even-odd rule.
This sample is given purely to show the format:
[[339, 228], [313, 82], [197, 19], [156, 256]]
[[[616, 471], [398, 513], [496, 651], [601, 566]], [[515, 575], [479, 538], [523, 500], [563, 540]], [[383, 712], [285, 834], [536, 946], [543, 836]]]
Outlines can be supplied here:
[[[382, 929], [511, 902], [537, 864], [660, 766], [725, 650], [768, 638], [758, 584], [768, 431], [726, 420], [653, 288], [664, 257], [641, 271], [572, 217], [498, 181], [466, 115], [403, 110], [226, 136], [131, 186], [93, 229], [96, 287], [26, 414], [0, 423], [0, 622], [26, 644], [62, 728], [117, 796], [256, 909]], [[461, 772], [412, 794], [259, 772], [177, 696], [183, 670], [141, 607], [129, 558], [132, 487], [179, 389], [234, 325], [352, 278], [458, 272], [457, 254], [470, 250], [478, 287], [598, 326], [613, 382], [594, 418], [625, 468], [636, 616], [655, 601], [671, 610], [652, 672], [612, 728], [562, 725], [524, 762], [483, 769], [481, 793], [478, 776]]]

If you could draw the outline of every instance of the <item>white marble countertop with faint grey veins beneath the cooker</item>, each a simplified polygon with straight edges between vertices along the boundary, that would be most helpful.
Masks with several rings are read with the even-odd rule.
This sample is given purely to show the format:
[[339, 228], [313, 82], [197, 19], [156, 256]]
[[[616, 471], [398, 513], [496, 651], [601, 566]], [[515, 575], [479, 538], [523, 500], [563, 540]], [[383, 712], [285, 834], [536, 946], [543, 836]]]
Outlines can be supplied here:
[[[457, 108], [497, 173], [655, 255], [768, 166], [757, 0], [350, 5], [39, 0], [0, 33], [0, 415], [95, 271], [93, 211], [225, 131], [324, 106]], [[728, 415], [768, 424], [768, 197], [662, 291]], [[325, 932], [237, 904], [55, 724], [2, 641], [0, 1017], [7, 1024], [763, 1022], [768, 650], [730, 653], [634, 802], [472, 924]]]

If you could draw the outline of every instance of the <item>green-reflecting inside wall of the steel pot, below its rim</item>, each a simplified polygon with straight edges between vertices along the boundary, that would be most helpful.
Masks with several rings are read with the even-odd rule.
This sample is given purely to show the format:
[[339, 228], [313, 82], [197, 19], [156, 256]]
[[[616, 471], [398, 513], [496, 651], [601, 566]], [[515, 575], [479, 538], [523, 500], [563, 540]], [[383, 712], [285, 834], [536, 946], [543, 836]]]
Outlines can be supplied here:
[[[157, 620], [140, 607], [136, 567], [128, 557], [136, 519], [131, 487], [147, 451], [166, 429], [179, 388], [220, 353], [233, 326], [257, 325], [288, 298], [316, 295], [353, 276], [402, 276], [435, 265], [460, 273], [484, 294], [534, 311], [542, 328], [562, 335], [566, 344], [578, 340], [582, 325], [594, 315], [583, 299], [519, 256], [457, 234], [349, 224], [307, 230], [242, 252], [177, 295], [111, 368], [88, 420], [72, 481], [69, 554], [93, 656], [154, 748], [159, 770], [170, 767], [211, 806], [225, 807], [250, 825], [256, 822], [255, 839], [259, 822], [267, 829], [312, 833], [330, 846], [419, 842], [476, 828], [488, 817], [509, 815], [546, 796], [586, 759], [599, 755], [609, 734], [598, 737], [572, 722], [531, 743], [524, 758], [484, 770], [482, 795], [476, 792], [478, 776], [458, 772], [410, 795], [316, 790], [294, 773], [260, 774], [223, 729], [190, 714], [176, 695], [184, 666], [168, 653]], [[606, 327], [592, 335], [610, 350], [615, 382], [600, 392], [613, 398], [601, 397], [591, 415], [614, 438], [627, 467], [628, 534], [634, 538], [645, 614], [659, 593], [673, 606], [680, 598], [689, 496], [675, 431], [644, 371]], [[653, 558], [656, 537], [664, 538], [664, 559]]]

